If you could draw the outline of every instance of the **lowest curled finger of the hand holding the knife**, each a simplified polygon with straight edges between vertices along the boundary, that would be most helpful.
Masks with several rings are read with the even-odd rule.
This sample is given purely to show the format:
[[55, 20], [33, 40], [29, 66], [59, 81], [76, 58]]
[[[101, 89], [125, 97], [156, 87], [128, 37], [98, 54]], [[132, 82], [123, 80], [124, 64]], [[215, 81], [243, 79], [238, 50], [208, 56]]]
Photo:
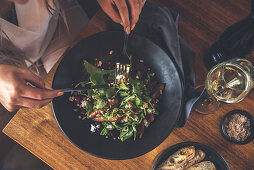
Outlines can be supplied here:
[[39, 109], [43, 106], [46, 106], [52, 101], [52, 99], [45, 99], [45, 100], [34, 100], [34, 99], [29, 99], [29, 98], [21, 98], [20, 99], [20, 106], [27, 107], [27, 108], [32, 108], [32, 109]]

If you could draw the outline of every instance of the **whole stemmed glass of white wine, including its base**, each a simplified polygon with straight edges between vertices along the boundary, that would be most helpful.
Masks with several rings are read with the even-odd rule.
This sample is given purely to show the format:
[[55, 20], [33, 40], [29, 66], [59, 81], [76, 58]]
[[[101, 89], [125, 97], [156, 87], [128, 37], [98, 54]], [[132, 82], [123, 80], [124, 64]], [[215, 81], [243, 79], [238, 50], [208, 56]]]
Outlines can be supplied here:
[[220, 102], [240, 102], [253, 88], [253, 76], [254, 67], [246, 59], [235, 58], [217, 64], [207, 74], [195, 111], [209, 114], [218, 109]]

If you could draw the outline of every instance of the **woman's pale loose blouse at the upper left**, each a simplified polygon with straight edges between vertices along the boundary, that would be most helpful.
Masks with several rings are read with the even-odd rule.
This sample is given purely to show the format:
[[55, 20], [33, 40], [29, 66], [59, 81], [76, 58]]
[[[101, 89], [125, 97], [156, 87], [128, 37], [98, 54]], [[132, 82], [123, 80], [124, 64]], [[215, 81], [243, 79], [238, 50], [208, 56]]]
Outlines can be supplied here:
[[67, 23], [58, 12], [50, 14], [44, 0], [29, 0], [23, 5], [15, 3], [18, 26], [0, 18], [0, 27], [12, 43], [32, 62], [41, 58], [46, 72], [50, 71], [88, 22], [87, 15], [75, 0], [57, 2], [56, 6], [59, 5], [64, 11]]

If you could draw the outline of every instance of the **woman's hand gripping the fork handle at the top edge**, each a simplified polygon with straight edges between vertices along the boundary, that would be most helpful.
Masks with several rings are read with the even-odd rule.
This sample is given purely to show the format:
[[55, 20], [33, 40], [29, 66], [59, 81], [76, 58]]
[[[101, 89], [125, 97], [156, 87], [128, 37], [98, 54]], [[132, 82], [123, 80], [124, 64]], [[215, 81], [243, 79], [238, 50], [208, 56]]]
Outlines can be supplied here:
[[[127, 34], [134, 29], [146, 0], [97, 0], [103, 11], [116, 23], [121, 24]], [[130, 7], [130, 14], [127, 7]], [[117, 10], [116, 10], [117, 9]], [[131, 20], [130, 20], [131, 18]]]

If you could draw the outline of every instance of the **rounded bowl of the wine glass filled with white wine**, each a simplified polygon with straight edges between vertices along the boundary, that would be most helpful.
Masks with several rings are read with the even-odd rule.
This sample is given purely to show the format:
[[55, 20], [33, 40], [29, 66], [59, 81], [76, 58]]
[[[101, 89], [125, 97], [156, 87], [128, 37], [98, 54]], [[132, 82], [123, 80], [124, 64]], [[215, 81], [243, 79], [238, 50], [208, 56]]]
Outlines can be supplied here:
[[248, 60], [232, 59], [213, 67], [206, 78], [209, 95], [224, 103], [243, 100], [253, 87], [254, 67]]

